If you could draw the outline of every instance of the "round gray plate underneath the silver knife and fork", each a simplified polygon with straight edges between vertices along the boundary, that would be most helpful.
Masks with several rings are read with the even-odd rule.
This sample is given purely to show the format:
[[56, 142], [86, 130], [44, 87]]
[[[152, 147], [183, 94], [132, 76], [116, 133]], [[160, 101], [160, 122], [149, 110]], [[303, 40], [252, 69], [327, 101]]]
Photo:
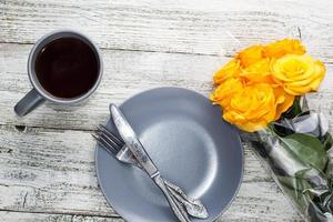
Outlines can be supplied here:
[[[203, 95], [181, 88], [137, 94], [120, 109], [161, 174], [199, 198], [213, 221], [232, 202], [243, 174], [236, 130]], [[107, 127], [115, 131], [109, 120]], [[130, 222], [176, 221], [161, 191], [141, 170], [122, 164], [99, 145], [97, 174], [108, 202]]]

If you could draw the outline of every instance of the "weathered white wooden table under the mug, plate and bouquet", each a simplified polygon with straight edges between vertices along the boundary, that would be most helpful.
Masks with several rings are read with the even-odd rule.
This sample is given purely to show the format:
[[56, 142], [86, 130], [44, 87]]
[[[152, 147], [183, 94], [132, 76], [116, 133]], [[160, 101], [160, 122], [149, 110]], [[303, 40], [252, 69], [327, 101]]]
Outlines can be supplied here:
[[[302, 38], [329, 67], [310, 102], [333, 122], [332, 10], [331, 0], [0, 0], [0, 221], [122, 221], [98, 185], [90, 137], [108, 119], [108, 103], [162, 85], [208, 95], [213, 71], [252, 43]], [[31, 88], [33, 42], [62, 28], [102, 49], [100, 88], [83, 107], [46, 103], [16, 117]], [[241, 190], [219, 221], [302, 219], [245, 148]]]

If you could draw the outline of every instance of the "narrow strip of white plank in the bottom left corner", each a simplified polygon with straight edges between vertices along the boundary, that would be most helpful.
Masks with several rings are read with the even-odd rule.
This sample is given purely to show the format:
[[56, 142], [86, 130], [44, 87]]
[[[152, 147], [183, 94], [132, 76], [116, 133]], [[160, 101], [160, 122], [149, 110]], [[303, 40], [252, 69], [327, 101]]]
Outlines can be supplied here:
[[2, 222], [123, 222], [117, 218], [0, 211]]

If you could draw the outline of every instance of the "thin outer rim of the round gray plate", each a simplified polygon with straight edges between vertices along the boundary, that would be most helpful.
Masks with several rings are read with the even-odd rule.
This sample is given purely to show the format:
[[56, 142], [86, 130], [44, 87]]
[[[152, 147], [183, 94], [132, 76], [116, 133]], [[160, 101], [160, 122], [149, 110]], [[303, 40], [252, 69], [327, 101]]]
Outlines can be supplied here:
[[[138, 93], [135, 93], [135, 94], [129, 97], [128, 99], [125, 99], [124, 101], [122, 101], [122, 102], [119, 104], [119, 107], [121, 108], [121, 107], [123, 105], [123, 103], [125, 103], [127, 101], [129, 101], [129, 100], [131, 100], [131, 99], [133, 99], [133, 98], [135, 98], [135, 97], [139, 97], [139, 95], [141, 95], [141, 94], [143, 94], [143, 93], [147, 93], [147, 92], [150, 92], [150, 91], [154, 91], [154, 90], [161, 90], [161, 89], [164, 89], [164, 90], [168, 90], [168, 89], [170, 89], [170, 90], [172, 90], [172, 89], [176, 89], [176, 90], [185, 90], [185, 91], [189, 91], [189, 92], [191, 92], [191, 93], [195, 93], [195, 94], [198, 94], [198, 95], [200, 95], [200, 97], [203, 97], [203, 98], [205, 98], [205, 99], [209, 99], [209, 98], [206, 98], [205, 95], [203, 95], [202, 93], [196, 92], [196, 91], [191, 90], [191, 89], [188, 89], [188, 88], [181, 88], [181, 87], [158, 87], [158, 88], [152, 88], [152, 89], [143, 90], [143, 91], [141, 91], [141, 92], [138, 92]], [[221, 112], [222, 112], [222, 110], [221, 110]], [[104, 122], [104, 124], [107, 124], [109, 120], [110, 120], [110, 118]], [[225, 122], [226, 122], [226, 121], [225, 121]], [[229, 122], [226, 122], [226, 123], [230, 124]], [[225, 211], [231, 206], [231, 204], [234, 202], [236, 195], [238, 195], [239, 192], [240, 192], [240, 189], [241, 189], [241, 185], [243, 184], [243, 179], [244, 179], [244, 163], [245, 163], [245, 160], [244, 160], [244, 159], [245, 159], [245, 158], [244, 158], [244, 147], [243, 147], [243, 144], [242, 144], [242, 140], [241, 140], [239, 130], [238, 130], [234, 125], [232, 125], [232, 124], [230, 124], [230, 125], [233, 128], [234, 132], [236, 133], [236, 140], [238, 140], [238, 142], [239, 142], [239, 144], [240, 144], [240, 148], [241, 148], [241, 163], [242, 163], [242, 168], [241, 168], [240, 181], [238, 182], [238, 186], [236, 186], [236, 189], [235, 189], [235, 191], [234, 191], [232, 198], [230, 199], [229, 203], [225, 205], [225, 208], [224, 208], [216, 216], [214, 216], [214, 218], [212, 219], [212, 222], [213, 222], [213, 221], [216, 221], [219, 218], [221, 218], [221, 216], [225, 213]], [[107, 200], [109, 206], [110, 206], [117, 214], [119, 214], [122, 219], [124, 219], [124, 220], [127, 221], [128, 219], [124, 216], [124, 214], [123, 214], [123, 213], [119, 213], [119, 211], [117, 211], [117, 210], [114, 209], [114, 206], [112, 205], [112, 200], [111, 200], [111, 198], [109, 198], [109, 196], [105, 194], [104, 188], [103, 188], [103, 185], [102, 185], [102, 183], [101, 183], [101, 179], [100, 179], [100, 174], [99, 174], [99, 170], [98, 170], [98, 164], [97, 164], [97, 163], [98, 163], [98, 150], [99, 150], [99, 144], [97, 143], [97, 144], [94, 145], [94, 169], [95, 169], [95, 174], [97, 174], [97, 179], [98, 179], [98, 184], [100, 185], [100, 190], [102, 191], [102, 194], [103, 194], [103, 196], [105, 198], [105, 200]]]

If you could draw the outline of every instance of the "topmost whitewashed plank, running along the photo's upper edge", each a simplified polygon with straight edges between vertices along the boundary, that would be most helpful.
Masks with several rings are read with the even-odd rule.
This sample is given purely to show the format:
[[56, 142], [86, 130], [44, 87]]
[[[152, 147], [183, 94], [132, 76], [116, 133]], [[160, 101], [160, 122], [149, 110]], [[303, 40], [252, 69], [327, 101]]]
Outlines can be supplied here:
[[33, 43], [48, 31], [72, 28], [102, 48], [230, 56], [302, 36], [314, 56], [333, 61], [329, 0], [3, 0], [0, 7], [1, 42]]

